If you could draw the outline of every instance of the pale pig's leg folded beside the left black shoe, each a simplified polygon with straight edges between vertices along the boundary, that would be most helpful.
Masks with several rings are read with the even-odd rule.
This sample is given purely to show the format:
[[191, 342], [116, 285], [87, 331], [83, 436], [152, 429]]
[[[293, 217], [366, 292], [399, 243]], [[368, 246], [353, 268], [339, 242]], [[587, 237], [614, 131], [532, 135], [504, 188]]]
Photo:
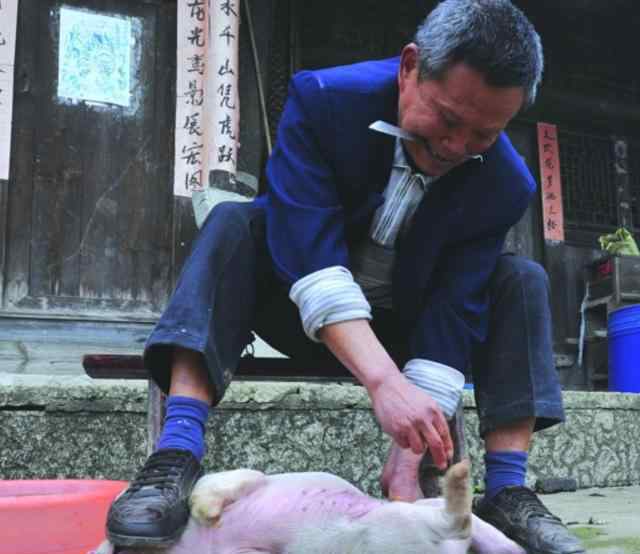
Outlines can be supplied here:
[[251, 494], [266, 480], [261, 471], [236, 469], [200, 478], [191, 493], [191, 515], [199, 523], [214, 525], [222, 510], [238, 498]]

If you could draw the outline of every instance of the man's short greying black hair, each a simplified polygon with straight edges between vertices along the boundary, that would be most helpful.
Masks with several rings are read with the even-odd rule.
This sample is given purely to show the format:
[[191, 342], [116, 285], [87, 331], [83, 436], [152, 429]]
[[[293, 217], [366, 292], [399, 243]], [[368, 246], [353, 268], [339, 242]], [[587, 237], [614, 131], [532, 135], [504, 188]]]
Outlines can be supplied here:
[[544, 59], [540, 36], [509, 0], [444, 0], [418, 27], [420, 79], [439, 79], [464, 62], [494, 87], [522, 87], [536, 99]]

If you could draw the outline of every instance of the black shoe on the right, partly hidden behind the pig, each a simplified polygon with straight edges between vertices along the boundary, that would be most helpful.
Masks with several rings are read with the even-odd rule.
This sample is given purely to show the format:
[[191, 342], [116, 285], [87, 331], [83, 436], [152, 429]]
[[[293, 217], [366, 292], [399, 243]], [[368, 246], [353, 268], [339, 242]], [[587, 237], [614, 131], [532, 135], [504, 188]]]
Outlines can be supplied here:
[[507, 487], [491, 500], [475, 498], [473, 513], [497, 527], [528, 554], [583, 554], [580, 541], [526, 487]]

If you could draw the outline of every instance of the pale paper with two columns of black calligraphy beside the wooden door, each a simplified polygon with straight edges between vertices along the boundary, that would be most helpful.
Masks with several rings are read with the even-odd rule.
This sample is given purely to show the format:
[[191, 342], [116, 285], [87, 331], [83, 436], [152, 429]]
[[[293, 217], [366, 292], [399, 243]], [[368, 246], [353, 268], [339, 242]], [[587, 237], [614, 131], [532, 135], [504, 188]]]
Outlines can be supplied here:
[[174, 194], [208, 187], [212, 170], [236, 173], [237, 0], [178, 2]]

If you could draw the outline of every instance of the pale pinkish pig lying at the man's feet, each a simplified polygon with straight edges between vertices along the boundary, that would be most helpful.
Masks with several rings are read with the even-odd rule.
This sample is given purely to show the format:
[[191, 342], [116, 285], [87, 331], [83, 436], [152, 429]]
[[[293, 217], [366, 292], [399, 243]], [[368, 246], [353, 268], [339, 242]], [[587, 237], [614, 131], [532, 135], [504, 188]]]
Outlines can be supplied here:
[[469, 464], [447, 472], [444, 499], [371, 498], [328, 473], [266, 476], [239, 469], [206, 475], [191, 495], [191, 519], [168, 550], [95, 554], [524, 554], [471, 515]]

